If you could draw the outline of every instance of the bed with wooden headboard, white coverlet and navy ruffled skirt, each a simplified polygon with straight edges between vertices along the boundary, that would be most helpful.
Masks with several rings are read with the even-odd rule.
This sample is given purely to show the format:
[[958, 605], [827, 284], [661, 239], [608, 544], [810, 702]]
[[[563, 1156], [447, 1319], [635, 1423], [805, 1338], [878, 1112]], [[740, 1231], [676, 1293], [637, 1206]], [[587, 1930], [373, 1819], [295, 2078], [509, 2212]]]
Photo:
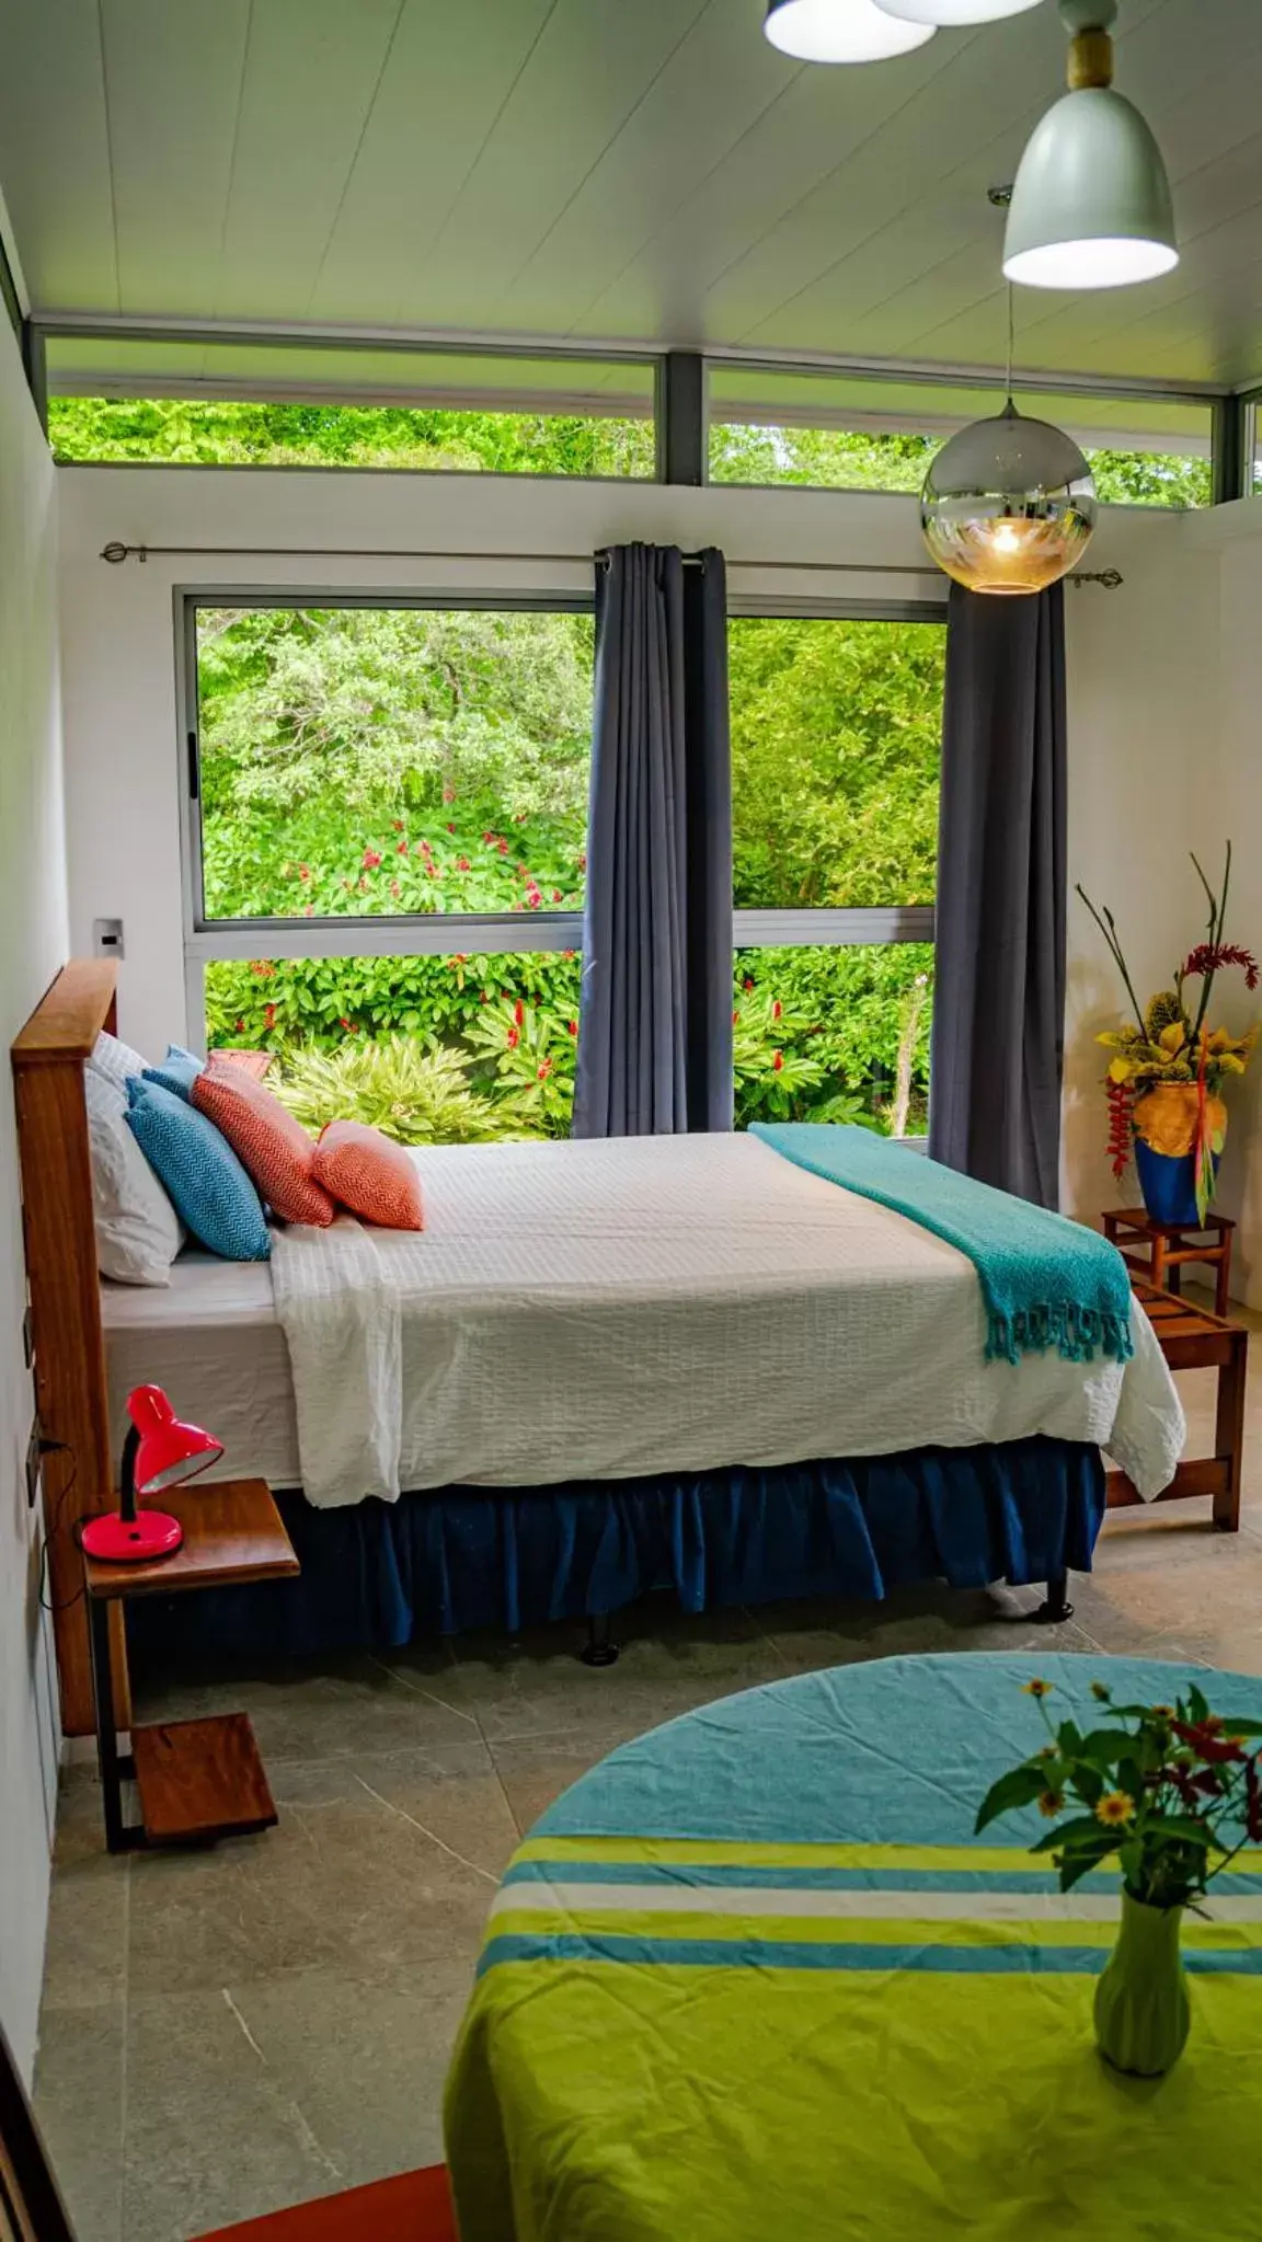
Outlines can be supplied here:
[[[1139, 1307], [1128, 1363], [989, 1363], [955, 1247], [751, 1137], [428, 1148], [424, 1235], [338, 1220], [278, 1231], [269, 1267], [186, 1253], [166, 1291], [103, 1285], [81, 1069], [110, 971], [67, 969], [13, 1054], [40, 1410], [74, 1430], [74, 1511], [103, 1507], [141, 1379], [215, 1430], [222, 1475], [285, 1491], [303, 1581], [197, 1599], [208, 1650], [594, 1616], [655, 1585], [699, 1610], [1063, 1581], [1092, 1560], [1101, 1446], [1148, 1498], [1175, 1475]], [[161, 1637], [161, 1599], [143, 1623]], [[61, 1614], [69, 1733], [78, 1634]]]

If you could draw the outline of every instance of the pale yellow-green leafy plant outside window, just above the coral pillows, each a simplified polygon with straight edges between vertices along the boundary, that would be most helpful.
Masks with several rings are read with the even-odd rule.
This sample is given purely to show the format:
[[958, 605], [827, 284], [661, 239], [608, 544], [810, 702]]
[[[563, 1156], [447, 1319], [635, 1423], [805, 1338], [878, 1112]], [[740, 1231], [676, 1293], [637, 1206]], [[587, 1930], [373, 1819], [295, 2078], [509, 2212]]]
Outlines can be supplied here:
[[527, 1134], [468, 1087], [468, 1060], [408, 1036], [354, 1038], [334, 1051], [294, 1051], [269, 1087], [314, 1132], [327, 1121], [365, 1121], [397, 1143], [477, 1143]]

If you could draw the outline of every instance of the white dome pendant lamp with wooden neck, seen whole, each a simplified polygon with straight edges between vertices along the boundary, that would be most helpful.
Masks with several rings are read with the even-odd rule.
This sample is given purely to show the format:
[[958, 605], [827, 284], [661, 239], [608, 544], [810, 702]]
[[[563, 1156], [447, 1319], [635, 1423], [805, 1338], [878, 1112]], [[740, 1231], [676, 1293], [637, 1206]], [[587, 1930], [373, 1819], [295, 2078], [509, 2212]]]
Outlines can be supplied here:
[[1116, 0], [1060, 0], [1069, 92], [1020, 159], [1004, 274], [1024, 287], [1096, 289], [1157, 280], [1179, 262], [1161, 150], [1114, 92]]

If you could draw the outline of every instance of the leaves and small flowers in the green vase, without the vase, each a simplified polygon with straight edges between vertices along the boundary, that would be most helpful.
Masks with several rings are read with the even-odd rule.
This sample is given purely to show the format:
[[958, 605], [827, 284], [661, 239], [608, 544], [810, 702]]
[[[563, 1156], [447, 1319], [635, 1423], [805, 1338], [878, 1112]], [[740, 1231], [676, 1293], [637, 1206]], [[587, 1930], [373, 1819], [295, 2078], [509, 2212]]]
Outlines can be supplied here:
[[[1092, 1697], [1107, 1726], [1083, 1733], [1051, 1722], [1051, 1682], [1024, 1682], [1047, 1744], [989, 1789], [977, 1834], [1018, 1807], [1058, 1823], [1033, 1852], [1049, 1852], [1069, 1892], [1110, 1852], [1123, 1888], [1145, 1908], [1186, 1908], [1244, 1845], [1262, 1845], [1262, 1720], [1210, 1713], [1199, 1688], [1170, 1704], [1114, 1704], [1103, 1682]], [[1069, 1814], [1069, 1821], [1060, 1821]], [[1217, 1859], [1210, 1865], [1210, 1854]]]

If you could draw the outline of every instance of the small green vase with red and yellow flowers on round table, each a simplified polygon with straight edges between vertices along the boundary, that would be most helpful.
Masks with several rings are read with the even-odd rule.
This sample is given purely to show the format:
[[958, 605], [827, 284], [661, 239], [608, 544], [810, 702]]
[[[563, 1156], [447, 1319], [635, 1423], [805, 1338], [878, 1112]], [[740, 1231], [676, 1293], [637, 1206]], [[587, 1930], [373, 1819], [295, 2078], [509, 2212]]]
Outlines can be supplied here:
[[1033, 1852], [1051, 1854], [1063, 1892], [1116, 1852], [1121, 1933], [1096, 1984], [1096, 2040], [1119, 2072], [1157, 2078], [1179, 2060], [1190, 2027], [1184, 1908], [1197, 1908], [1244, 1845], [1262, 1843], [1262, 1751], [1246, 1749], [1262, 1720], [1210, 1713], [1199, 1688], [1172, 1706], [1114, 1704], [1092, 1682], [1107, 1726], [1083, 1733], [1074, 1720], [1051, 1722], [1051, 1682], [1024, 1690], [1049, 1740], [991, 1787], [977, 1832], [1038, 1805], [1058, 1827]]

